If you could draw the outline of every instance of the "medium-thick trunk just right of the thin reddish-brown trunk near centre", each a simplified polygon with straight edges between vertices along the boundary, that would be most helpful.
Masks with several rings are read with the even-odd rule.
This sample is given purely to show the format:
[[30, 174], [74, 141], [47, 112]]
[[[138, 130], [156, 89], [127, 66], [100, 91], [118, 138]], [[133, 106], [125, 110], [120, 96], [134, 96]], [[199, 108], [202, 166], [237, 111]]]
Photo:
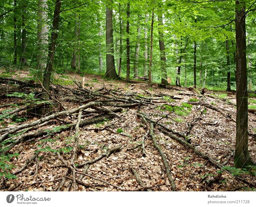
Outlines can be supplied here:
[[159, 49], [160, 49], [160, 66], [161, 66], [161, 84], [167, 85], [167, 70], [166, 57], [164, 48], [164, 32], [163, 32], [163, 13], [158, 10], [158, 35], [159, 35]]

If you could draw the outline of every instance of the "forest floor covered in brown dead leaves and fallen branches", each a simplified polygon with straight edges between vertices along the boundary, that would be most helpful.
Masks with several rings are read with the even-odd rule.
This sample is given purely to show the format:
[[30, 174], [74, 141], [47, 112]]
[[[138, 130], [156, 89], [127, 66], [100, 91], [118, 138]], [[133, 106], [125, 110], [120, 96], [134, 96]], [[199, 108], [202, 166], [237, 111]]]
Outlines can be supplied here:
[[[2, 191], [256, 190], [255, 169], [233, 167], [235, 93], [89, 74], [83, 89], [80, 75], [55, 74], [54, 103], [42, 105], [29, 95], [42, 87], [28, 75], [0, 77]], [[253, 94], [249, 102], [253, 108]], [[53, 112], [39, 116], [44, 104]], [[255, 113], [248, 125], [255, 161]]]

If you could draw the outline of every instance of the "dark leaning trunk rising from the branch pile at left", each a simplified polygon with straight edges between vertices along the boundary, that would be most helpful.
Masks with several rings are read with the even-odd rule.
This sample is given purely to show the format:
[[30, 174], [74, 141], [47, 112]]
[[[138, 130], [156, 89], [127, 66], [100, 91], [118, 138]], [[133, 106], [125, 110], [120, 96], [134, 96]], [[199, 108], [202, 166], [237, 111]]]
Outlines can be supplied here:
[[[56, 40], [58, 38], [57, 31], [59, 29], [60, 7], [61, 7], [61, 0], [56, 0], [54, 14], [53, 14], [53, 22], [52, 22], [51, 41], [48, 49], [49, 62], [47, 63], [46, 69], [44, 71], [44, 81], [43, 81], [44, 89], [48, 92], [50, 89], [50, 79], [51, 79], [52, 70], [53, 70], [55, 45], [56, 45]], [[42, 98], [49, 99], [49, 95], [44, 89], [42, 90]]]

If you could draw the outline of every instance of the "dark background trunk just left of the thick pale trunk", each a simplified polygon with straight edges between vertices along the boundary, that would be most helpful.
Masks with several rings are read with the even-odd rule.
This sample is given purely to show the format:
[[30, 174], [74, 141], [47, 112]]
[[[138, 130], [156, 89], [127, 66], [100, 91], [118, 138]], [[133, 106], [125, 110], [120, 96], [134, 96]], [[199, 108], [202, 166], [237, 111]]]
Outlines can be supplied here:
[[[25, 6], [26, 2], [23, 0], [23, 6]], [[27, 65], [27, 58], [26, 58], [26, 46], [27, 46], [27, 30], [26, 30], [26, 12], [27, 7], [22, 12], [22, 32], [21, 32], [21, 51], [22, 55], [20, 57], [20, 63], [23, 65]]]

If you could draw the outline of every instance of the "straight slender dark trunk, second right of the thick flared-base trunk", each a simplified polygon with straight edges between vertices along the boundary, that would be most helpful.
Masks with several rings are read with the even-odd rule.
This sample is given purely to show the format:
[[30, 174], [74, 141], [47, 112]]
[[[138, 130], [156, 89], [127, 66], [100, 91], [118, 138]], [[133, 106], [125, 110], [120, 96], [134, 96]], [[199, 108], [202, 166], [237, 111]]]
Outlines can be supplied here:
[[129, 38], [129, 28], [130, 28], [130, 2], [127, 4], [127, 21], [126, 21], [126, 81], [130, 82], [130, 38]]

